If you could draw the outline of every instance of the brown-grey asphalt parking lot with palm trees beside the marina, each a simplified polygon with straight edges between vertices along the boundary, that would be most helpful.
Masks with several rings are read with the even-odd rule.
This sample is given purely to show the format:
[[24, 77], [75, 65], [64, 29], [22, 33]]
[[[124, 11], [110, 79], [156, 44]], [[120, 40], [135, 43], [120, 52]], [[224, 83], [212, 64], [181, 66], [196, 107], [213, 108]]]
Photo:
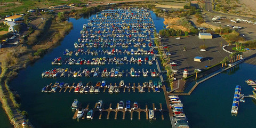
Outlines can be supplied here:
[[[176, 78], [182, 78], [182, 71], [188, 69], [188, 73], [194, 74], [195, 69], [206, 69], [206, 66], [213, 66], [225, 57], [229, 57], [229, 53], [222, 50], [220, 46], [226, 45], [227, 42], [219, 37], [219, 35], [213, 35], [213, 39], [205, 39], [206, 51], [201, 51], [199, 46], [204, 44], [203, 39], [199, 39], [198, 36], [182, 37], [181, 39], [175, 39], [170, 37], [163, 39], [162, 44], [167, 45], [172, 55], [170, 55], [171, 62], [176, 62], [177, 66], [173, 69], [178, 70]], [[186, 51], [183, 48], [186, 47]], [[167, 50], [165, 49], [167, 52]], [[203, 57], [202, 62], [194, 61], [195, 57]]]

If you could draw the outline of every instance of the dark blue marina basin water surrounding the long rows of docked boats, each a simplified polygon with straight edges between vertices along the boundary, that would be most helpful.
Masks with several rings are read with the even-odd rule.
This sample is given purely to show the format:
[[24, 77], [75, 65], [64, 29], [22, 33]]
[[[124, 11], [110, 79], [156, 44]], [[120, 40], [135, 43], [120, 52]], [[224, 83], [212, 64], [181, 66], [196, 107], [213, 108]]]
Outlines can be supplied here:
[[[156, 29], [163, 28], [163, 18], [158, 18], [155, 14], [151, 14], [153, 16], [154, 22], [157, 24]], [[95, 15], [92, 15], [95, 17]], [[66, 68], [72, 67], [74, 69], [79, 69], [81, 67], [88, 66], [51, 66], [51, 61], [55, 57], [63, 57], [62, 53], [65, 49], [74, 49], [74, 42], [77, 42], [77, 39], [81, 36], [80, 30], [83, 27], [84, 23], [87, 23], [88, 19], [72, 19], [70, 18], [70, 22], [73, 22], [74, 29], [70, 31], [70, 33], [63, 39], [61, 45], [53, 49], [51, 52], [44, 55], [44, 57], [33, 65], [28, 66], [26, 69], [19, 71], [19, 75], [17, 78], [13, 79], [10, 82], [10, 86], [14, 88], [14, 90], [18, 91], [21, 96], [21, 110], [26, 110], [28, 112], [28, 119], [33, 123], [36, 127], [159, 127], [159, 126], [171, 126], [169, 115], [164, 113], [164, 120], [161, 119], [160, 114], [156, 114], [157, 120], [153, 122], [149, 122], [146, 120], [146, 114], [141, 113], [141, 119], [138, 120], [138, 113], [133, 113], [133, 119], [130, 119], [130, 113], [125, 114], [125, 119], [122, 119], [122, 115], [118, 113], [117, 119], [114, 119], [115, 114], [110, 113], [109, 119], [106, 119], [107, 113], [103, 113], [101, 119], [98, 119], [99, 114], [95, 114], [93, 120], [89, 121], [86, 119], [72, 119], [74, 115], [74, 111], [71, 110], [71, 103], [74, 99], [78, 99], [83, 103], [83, 107], [86, 107], [87, 103], [90, 103], [89, 108], [93, 108], [95, 102], [98, 100], [103, 100], [103, 107], [108, 108], [109, 103], [112, 103], [112, 108], [116, 107], [116, 103], [120, 100], [131, 100], [131, 103], [138, 102], [139, 106], [143, 109], [147, 103], [148, 108], [152, 108], [151, 103], [155, 103], [156, 108], [159, 108], [159, 103], [162, 103], [163, 108], [166, 108], [166, 103], [164, 100], [163, 92], [154, 93], [152, 90], [150, 92], [138, 93], [126, 91], [125, 93], [120, 92], [119, 94], [109, 94], [107, 92], [101, 92], [99, 94], [75, 94], [73, 92], [56, 92], [56, 93], [42, 93], [41, 89], [43, 86], [48, 85], [50, 83], [59, 82], [68, 82], [68, 83], [77, 83], [82, 81], [84, 83], [92, 81], [93, 85], [97, 81], [106, 80], [109, 84], [111, 83], [119, 83], [121, 80], [125, 81], [125, 84], [131, 82], [136, 83], [146, 82], [149, 80], [159, 81], [159, 78], [152, 77], [122, 77], [122, 78], [101, 78], [101, 77], [81, 77], [81, 78], [73, 78], [73, 77], [58, 77], [57, 79], [53, 78], [42, 78], [41, 74], [44, 70], [49, 70], [52, 68]], [[107, 55], [101, 55], [107, 56]], [[130, 55], [127, 55], [129, 57]], [[83, 56], [85, 57], [85, 56]], [[121, 57], [121, 56], [120, 56]], [[131, 56], [130, 56], [131, 57]], [[78, 58], [73, 57], [72, 58]], [[89, 55], [86, 58], [92, 58]], [[89, 66], [89, 69], [100, 67], [100, 71], [104, 68], [117, 67], [116, 65], [106, 65], [106, 66]], [[157, 69], [155, 63], [152, 66], [147, 65], [123, 65], [118, 66], [120, 69], [128, 69], [134, 67], [135, 70], [144, 69]]]

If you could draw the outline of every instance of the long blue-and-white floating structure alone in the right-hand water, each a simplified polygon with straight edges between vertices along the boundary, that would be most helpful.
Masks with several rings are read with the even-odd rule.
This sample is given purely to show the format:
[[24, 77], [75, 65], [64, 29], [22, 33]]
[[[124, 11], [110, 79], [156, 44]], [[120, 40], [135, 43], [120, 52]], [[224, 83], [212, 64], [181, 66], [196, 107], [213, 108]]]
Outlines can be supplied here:
[[237, 85], [236, 89], [235, 89], [232, 108], [231, 108], [231, 113], [232, 114], [237, 114], [238, 113], [238, 105], [239, 105], [240, 94], [241, 94], [241, 86]]

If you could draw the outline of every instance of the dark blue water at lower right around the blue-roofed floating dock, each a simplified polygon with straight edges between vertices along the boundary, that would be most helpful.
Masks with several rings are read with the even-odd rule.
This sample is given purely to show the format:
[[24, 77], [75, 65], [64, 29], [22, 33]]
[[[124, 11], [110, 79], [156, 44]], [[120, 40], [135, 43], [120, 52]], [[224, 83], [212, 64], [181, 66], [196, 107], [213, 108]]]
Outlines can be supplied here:
[[[225, 71], [199, 84], [189, 96], [182, 96], [183, 109], [191, 127], [255, 127], [255, 101], [245, 98], [239, 103], [237, 116], [231, 115], [235, 86], [242, 94], [252, 94], [247, 79], [254, 79], [256, 67], [242, 63], [233, 71]], [[191, 84], [193, 86], [193, 84]]]

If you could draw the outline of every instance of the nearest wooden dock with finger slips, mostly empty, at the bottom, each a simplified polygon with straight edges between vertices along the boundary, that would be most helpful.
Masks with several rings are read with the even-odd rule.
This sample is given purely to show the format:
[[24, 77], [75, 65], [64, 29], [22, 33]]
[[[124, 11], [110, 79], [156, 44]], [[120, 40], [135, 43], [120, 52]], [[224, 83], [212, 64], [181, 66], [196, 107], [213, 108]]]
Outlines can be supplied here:
[[[97, 109], [97, 103], [95, 103], [95, 106], [94, 108], [92, 109], [93, 110], [93, 114], [92, 114], [92, 117], [91, 119], [93, 119], [93, 116], [95, 114], [95, 112], [99, 111], [100, 112], [100, 115], [99, 115], [99, 119], [101, 119], [102, 117], [102, 113], [104, 111], [107, 111], [107, 118], [106, 119], [109, 119], [109, 115], [110, 115], [110, 112], [114, 112], [115, 113], [115, 117], [114, 119], [117, 119], [117, 114], [118, 112], [122, 112], [122, 119], [125, 119], [125, 113], [130, 113], [131, 114], [131, 119], [133, 119], [133, 113], [134, 112], [137, 112], [138, 113], [138, 119], [141, 119], [141, 112], [145, 112], [146, 113], [146, 119], [149, 119], [149, 109], [148, 109], [148, 105], [145, 106], [145, 109], [141, 109], [141, 108], [138, 108], [138, 109], [134, 109], [134, 108], [131, 108], [131, 109], [126, 109], [126, 108], [123, 108], [123, 109], [118, 109], [118, 103], [116, 104], [116, 109], [112, 109], [111, 106], [112, 106], [112, 103], [109, 103], [109, 108], [107, 109]], [[161, 119], [164, 119], [164, 115], [163, 113], [164, 112], [169, 112], [169, 109], [163, 109], [162, 108], [162, 103], [159, 103], [159, 106], [160, 108], [159, 109], [156, 109], [155, 108], [155, 103], [153, 103], [153, 110], [154, 110], [154, 118], [153, 119], [156, 119], [156, 116], [155, 116], [155, 113], [156, 112], [160, 112], [161, 113]], [[82, 119], [85, 119], [85, 116], [86, 116], [86, 113], [87, 113], [87, 110], [89, 110], [89, 104], [87, 105], [87, 107], [84, 109], [84, 115], [82, 117]], [[77, 113], [78, 113], [78, 109], [75, 111], [75, 114], [73, 116], [73, 119], [77, 118]]]

